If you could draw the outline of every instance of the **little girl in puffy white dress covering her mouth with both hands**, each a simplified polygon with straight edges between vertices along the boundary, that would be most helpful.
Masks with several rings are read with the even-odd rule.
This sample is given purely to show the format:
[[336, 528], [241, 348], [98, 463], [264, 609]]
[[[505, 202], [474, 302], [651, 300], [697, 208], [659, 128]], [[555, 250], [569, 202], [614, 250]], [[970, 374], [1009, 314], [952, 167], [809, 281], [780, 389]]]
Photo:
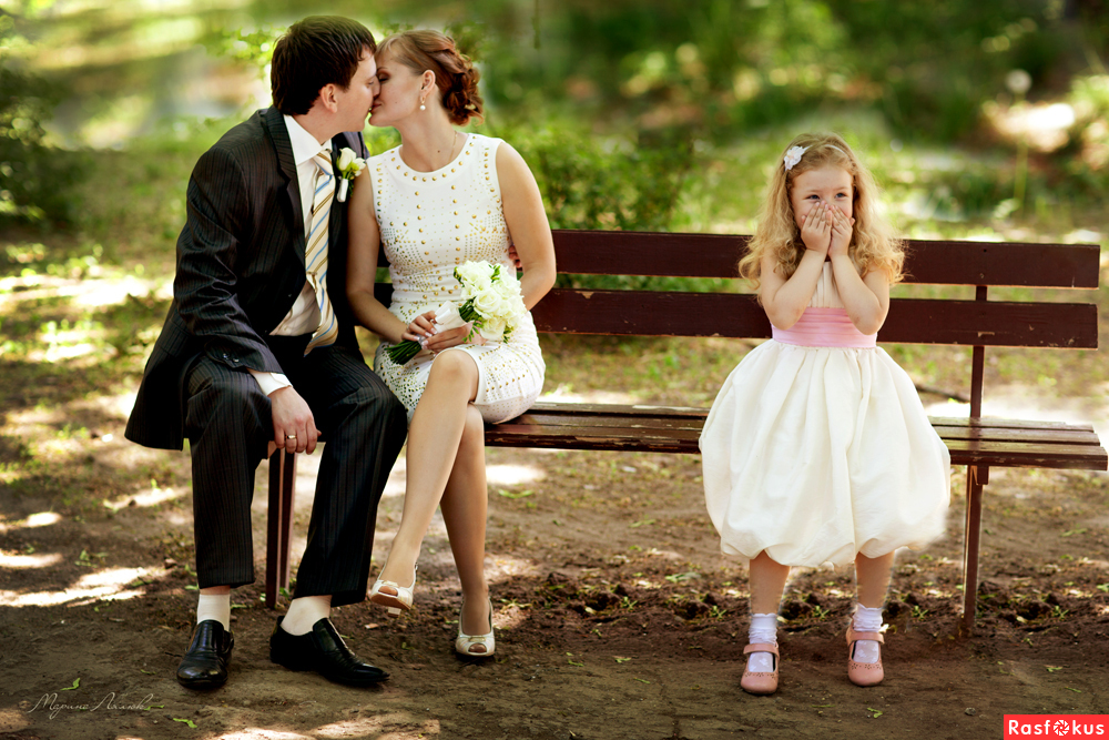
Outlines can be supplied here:
[[777, 609], [791, 566], [855, 562], [847, 677], [882, 681], [882, 605], [894, 550], [944, 531], [950, 456], [913, 382], [875, 346], [904, 251], [846, 142], [803, 134], [770, 183], [740, 274], [774, 338], [732, 371], [701, 434], [721, 550], [750, 559], [740, 685], [777, 689]]

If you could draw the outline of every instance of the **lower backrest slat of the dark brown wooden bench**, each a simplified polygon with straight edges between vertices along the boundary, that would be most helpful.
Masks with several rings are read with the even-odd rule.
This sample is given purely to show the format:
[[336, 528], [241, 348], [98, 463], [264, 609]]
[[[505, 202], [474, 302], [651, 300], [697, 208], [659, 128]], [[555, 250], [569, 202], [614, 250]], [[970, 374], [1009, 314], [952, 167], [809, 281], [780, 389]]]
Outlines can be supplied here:
[[[769, 338], [753, 295], [552, 290], [532, 312], [540, 332]], [[1097, 305], [893, 298], [879, 342], [1097, 348]]]

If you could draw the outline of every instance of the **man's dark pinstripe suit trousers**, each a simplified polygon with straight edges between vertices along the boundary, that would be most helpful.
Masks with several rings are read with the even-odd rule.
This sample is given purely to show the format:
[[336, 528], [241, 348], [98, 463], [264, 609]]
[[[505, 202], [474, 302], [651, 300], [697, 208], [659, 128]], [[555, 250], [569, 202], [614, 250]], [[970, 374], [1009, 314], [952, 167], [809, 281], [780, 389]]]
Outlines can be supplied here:
[[[366, 598], [377, 505], [407, 435], [405, 408], [362, 354], [346, 346], [302, 356], [308, 336], [266, 337], [324, 433], [308, 544], [294, 598]], [[193, 467], [201, 588], [254, 582], [254, 474], [273, 439], [269, 398], [250, 373], [200, 355], [182, 377]]]

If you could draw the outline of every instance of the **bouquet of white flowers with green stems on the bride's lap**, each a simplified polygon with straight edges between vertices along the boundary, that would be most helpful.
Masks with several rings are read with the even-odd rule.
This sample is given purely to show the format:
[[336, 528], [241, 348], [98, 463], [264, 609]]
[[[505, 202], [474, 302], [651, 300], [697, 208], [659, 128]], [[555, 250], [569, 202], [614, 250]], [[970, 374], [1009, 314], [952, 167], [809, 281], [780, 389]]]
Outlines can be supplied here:
[[[474, 322], [467, 339], [477, 333], [486, 342], [507, 342], [528, 313], [516, 273], [488, 262], [467, 262], [455, 267], [462, 286], [462, 303], [444, 303], [435, 312], [435, 324], [451, 330]], [[423, 343], [407, 339], [386, 349], [389, 359], [404, 365], [419, 354]]]

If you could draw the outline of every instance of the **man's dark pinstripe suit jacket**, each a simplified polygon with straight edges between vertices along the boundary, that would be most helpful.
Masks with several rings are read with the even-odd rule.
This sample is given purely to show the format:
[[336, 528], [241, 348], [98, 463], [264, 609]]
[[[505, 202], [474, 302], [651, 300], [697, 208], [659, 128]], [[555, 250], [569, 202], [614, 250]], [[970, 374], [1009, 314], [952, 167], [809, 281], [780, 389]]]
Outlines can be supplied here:
[[[360, 133], [332, 140], [366, 156]], [[205, 152], [189, 180], [187, 217], [177, 237], [173, 303], [146, 363], [126, 437], [181, 449], [181, 379], [203, 353], [228, 367], [281, 373], [267, 335], [305, 282], [304, 214], [288, 130], [275, 108], [260, 110]], [[328, 222], [328, 295], [338, 344], [357, 348], [346, 301], [346, 204]]]

